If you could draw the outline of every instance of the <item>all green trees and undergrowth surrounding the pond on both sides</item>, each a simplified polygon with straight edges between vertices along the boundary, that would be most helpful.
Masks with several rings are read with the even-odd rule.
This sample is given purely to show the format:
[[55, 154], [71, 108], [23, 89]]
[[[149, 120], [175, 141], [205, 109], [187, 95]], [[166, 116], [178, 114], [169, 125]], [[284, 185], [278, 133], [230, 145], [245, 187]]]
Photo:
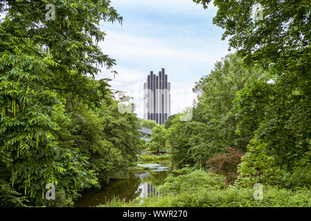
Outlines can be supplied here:
[[83, 189], [127, 177], [141, 126], [175, 170], [159, 197], [100, 206], [311, 206], [310, 0], [214, 0], [236, 52], [196, 83], [192, 117], [164, 125], [120, 113], [110, 79], [95, 79], [116, 64], [96, 44], [101, 20], [122, 22], [110, 2], [57, 3], [49, 21], [46, 1], [0, 0], [0, 206], [73, 206]]

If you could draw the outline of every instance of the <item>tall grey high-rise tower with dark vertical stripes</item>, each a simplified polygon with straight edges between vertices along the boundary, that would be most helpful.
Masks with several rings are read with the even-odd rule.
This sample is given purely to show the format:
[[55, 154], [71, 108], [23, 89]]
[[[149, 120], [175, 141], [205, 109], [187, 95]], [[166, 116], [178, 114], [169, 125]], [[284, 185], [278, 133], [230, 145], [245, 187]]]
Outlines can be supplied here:
[[170, 82], [164, 68], [158, 75], [150, 71], [143, 84], [143, 95], [143, 118], [164, 124], [170, 115]]

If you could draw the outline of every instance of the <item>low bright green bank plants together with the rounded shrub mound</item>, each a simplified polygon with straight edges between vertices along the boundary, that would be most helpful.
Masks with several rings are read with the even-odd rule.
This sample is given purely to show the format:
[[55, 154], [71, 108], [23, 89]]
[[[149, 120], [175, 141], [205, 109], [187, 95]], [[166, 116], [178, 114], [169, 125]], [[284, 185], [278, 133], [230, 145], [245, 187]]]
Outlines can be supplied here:
[[[178, 175], [179, 174], [179, 175]], [[311, 191], [292, 191], [272, 186], [263, 187], [262, 200], [255, 200], [256, 190], [228, 186], [225, 178], [206, 171], [181, 169], [173, 171], [159, 186], [160, 196], [124, 202], [114, 199], [109, 207], [310, 207]], [[257, 195], [258, 196], [258, 195]], [[257, 198], [258, 199], [258, 198]]]

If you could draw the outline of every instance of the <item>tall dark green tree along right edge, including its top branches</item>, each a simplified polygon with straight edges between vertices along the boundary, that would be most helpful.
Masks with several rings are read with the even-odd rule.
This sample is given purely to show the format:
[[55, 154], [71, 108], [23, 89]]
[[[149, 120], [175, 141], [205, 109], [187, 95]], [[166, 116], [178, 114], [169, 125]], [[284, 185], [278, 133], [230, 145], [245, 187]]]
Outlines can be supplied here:
[[[208, 0], [195, 0], [204, 8]], [[254, 19], [256, 5], [263, 17]], [[279, 166], [292, 170], [310, 149], [310, 1], [214, 1], [213, 23], [225, 29], [231, 48], [260, 64], [273, 84], [257, 81], [236, 102], [238, 131], [265, 142]]]

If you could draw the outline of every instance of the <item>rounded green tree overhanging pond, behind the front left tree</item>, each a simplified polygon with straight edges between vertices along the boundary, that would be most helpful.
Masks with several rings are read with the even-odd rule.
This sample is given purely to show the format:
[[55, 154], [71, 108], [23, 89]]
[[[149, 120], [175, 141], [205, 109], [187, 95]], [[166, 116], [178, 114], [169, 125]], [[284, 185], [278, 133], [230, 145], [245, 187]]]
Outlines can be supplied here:
[[[139, 153], [137, 117], [119, 113], [118, 102], [106, 104], [96, 111], [74, 102], [73, 106], [67, 105], [67, 110], [69, 124], [62, 125], [63, 131], [59, 133], [62, 143], [78, 148], [88, 157], [90, 168], [98, 173], [101, 182], [125, 177], [127, 166]], [[64, 119], [60, 119], [63, 124], [61, 122]]]

